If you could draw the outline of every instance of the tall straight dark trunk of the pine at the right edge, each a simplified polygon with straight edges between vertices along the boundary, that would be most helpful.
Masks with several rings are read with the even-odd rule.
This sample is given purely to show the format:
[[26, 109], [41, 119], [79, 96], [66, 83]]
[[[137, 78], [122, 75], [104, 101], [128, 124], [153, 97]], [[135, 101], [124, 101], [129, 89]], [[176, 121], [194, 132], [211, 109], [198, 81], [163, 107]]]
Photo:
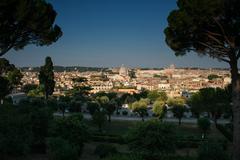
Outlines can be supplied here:
[[230, 59], [233, 111], [233, 160], [240, 160], [240, 78], [237, 58]]

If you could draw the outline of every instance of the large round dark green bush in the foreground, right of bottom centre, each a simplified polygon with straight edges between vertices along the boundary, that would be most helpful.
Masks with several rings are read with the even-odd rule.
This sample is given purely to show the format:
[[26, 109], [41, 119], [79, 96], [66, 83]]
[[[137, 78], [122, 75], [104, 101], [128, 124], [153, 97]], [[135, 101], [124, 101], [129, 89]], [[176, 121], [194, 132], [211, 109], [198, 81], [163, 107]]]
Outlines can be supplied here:
[[159, 121], [139, 123], [128, 135], [130, 150], [141, 153], [148, 159], [174, 153], [175, 141], [174, 128]]

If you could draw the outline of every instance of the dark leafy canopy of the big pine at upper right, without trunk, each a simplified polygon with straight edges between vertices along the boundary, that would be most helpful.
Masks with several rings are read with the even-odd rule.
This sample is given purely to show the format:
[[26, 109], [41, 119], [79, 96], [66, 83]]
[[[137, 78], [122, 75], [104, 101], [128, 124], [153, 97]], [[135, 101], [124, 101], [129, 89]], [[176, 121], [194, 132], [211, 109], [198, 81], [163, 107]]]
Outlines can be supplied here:
[[[224, 3], [224, 0], [177, 1], [178, 8], [169, 14], [168, 27], [165, 29], [166, 42], [176, 55], [184, 55], [193, 50], [220, 60], [224, 57], [224, 53], [218, 54], [219, 50], [215, 47], [217, 42], [223, 47], [223, 44], [228, 44], [225, 38], [221, 38], [223, 33], [219, 23], [226, 27], [231, 35], [239, 33], [238, 30], [233, 29], [238, 25], [228, 23], [231, 18], [226, 20], [225, 11], [230, 6]], [[231, 5], [239, 6], [237, 3]]]

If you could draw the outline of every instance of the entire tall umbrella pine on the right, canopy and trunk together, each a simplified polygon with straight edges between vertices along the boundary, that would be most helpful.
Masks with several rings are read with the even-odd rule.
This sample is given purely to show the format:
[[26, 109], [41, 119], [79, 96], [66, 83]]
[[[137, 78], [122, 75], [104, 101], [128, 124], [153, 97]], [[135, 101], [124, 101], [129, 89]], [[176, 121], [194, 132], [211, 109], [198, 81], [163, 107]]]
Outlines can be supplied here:
[[[240, 157], [239, 73], [240, 1], [178, 0], [177, 8], [168, 16], [166, 42], [176, 55], [197, 52], [230, 65], [234, 115], [233, 159]], [[214, 114], [216, 115], [216, 114]], [[214, 116], [216, 117], [216, 116]], [[216, 119], [216, 118], [215, 118]]]

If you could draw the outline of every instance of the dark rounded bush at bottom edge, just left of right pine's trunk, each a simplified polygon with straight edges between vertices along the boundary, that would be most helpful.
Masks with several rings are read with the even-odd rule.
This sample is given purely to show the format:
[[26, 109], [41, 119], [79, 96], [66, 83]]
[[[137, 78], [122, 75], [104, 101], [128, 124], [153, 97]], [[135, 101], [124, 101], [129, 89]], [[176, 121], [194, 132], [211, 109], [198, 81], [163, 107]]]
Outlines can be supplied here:
[[197, 160], [230, 160], [230, 157], [221, 145], [205, 142], [198, 149]]

